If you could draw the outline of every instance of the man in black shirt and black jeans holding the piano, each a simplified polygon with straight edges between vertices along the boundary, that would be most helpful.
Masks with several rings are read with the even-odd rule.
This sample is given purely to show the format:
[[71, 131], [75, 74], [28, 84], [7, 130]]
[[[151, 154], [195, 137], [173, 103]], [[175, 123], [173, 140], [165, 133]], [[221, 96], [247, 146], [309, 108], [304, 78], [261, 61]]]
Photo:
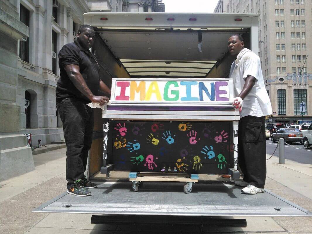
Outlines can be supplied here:
[[100, 68], [89, 49], [95, 39], [90, 25], [82, 25], [75, 42], [66, 44], [59, 52], [61, 78], [56, 85], [56, 107], [63, 122], [66, 142], [67, 193], [90, 195], [88, 188], [97, 185], [85, 178], [88, 152], [93, 135], [93, 109], [90, 102], [104, 105], [107, 97], [98, 96], [98, 90], [110, 94], [100, 80]]

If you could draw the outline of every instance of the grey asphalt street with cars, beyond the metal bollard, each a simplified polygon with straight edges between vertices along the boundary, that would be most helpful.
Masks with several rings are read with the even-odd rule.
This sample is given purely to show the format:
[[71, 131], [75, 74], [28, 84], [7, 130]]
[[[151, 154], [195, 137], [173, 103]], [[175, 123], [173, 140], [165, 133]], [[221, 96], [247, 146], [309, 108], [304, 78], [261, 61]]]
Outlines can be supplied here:
[[[272, 155], [277, 143], [271, 142], [271, 140], [266, 140], [266, 154]], [[297, 149], [294, 147], [300, 147], [302, 149]], [[276, 149], [274, 156], [279, 157], [279, 148]], [[312, 149], [304, 149], [304, 146], [300, 143], [292, 143], [292, 145], [285, 144], [285, 159], [295, 161], [297, 163], [312, 164]]]

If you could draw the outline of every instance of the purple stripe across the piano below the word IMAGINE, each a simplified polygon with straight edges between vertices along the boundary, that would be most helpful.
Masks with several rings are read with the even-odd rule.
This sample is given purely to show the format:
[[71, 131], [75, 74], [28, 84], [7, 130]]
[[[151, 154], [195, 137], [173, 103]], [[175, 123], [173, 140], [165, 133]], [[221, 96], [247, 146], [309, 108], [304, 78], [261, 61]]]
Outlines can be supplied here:
[[136, 106], [108, 105], [107, 110], [164, 110], [164, 111], [235, 111], [232, 106]]

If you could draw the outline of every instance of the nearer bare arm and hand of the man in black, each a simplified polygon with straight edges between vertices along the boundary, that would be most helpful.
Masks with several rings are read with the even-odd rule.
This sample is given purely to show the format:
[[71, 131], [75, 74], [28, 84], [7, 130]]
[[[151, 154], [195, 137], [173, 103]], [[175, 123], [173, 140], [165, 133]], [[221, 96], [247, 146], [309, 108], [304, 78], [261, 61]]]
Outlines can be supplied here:
[[89, 98], [92, 102], [100, 103], [100, 105], [103, 105], [105, 104], [105, 102], [109, 101], [107, 97], [93, 95], [93, 93], [85, 83], [85, 79], [82, 77], [78, 65], [75, 64], [66, 65], [65, 71], [71, 82], [73, 82], [73, 84], [75, 85], [75, 87], [83, 95]]

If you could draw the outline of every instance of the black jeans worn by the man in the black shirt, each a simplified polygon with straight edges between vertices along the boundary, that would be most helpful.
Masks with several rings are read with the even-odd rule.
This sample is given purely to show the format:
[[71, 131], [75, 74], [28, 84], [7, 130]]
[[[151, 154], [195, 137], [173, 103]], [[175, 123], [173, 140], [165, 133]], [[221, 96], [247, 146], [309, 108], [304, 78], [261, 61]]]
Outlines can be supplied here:
[[66, 143], [67, 188], [84, 178], [93, 136], [93, 109], [75, 98], [66, 98], [56, 105], [63, 122]]

